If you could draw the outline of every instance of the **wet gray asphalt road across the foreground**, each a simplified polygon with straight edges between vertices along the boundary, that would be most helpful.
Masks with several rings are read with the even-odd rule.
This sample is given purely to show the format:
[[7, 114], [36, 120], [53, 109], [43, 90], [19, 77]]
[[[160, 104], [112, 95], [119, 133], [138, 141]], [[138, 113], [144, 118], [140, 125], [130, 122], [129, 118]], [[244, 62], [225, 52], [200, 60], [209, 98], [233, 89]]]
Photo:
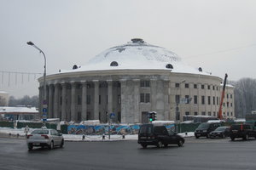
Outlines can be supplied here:
[[256, 140], [186, 139], [183, 147], [142, 149], [137, 141], [66, 142], [28, 151], [26, 140], [0, 138], [1, 170], [256, 169]]

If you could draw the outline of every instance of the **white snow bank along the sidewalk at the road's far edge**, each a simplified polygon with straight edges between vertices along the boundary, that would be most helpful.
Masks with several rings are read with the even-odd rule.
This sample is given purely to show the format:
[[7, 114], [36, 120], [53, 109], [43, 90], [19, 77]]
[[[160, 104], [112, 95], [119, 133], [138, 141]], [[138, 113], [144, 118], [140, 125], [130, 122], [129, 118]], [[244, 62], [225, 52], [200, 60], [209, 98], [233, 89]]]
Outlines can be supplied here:
[[[9, 134], [17, 135], [24, 137], [25, 136], [25, 127], [23, 128], [10, 128], [10, 127], [0, 127], [0, 134]], [[29, 133], [31, 133], [34, 129], [30, 128]], [[186, 137], [192, 137], [194, 136], [194, 132], [189, 133], [179, 133], [179, 135]], [[110, 139], [108, 138], [108, 135], [105, 135], [105, 139], [102, 138], [102, 135], [85, 135], [85, 138], [83, 140], [82, 134], [63, 134], [63, 138], [66, 141], [116, 141], [116, 140], [137, 140], [137, 134], [128, 134], [125, 135], [125, 139], [123, 139], [122, 135], [113, 134], [110, 135]]]

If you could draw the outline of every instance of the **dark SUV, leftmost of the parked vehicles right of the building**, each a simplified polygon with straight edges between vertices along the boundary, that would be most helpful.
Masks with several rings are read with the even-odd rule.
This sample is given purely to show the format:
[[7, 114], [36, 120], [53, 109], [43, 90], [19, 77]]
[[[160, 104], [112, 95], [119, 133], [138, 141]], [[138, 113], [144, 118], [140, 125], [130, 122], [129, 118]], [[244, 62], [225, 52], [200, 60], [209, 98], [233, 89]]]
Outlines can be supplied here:
[[221, 127], [221, 123], [220, 122], [202, 122], [195, 129], [195, 138], [199, 139], [202, 136], [209, 138], [209, 133], [211, 133], [217, 127]]

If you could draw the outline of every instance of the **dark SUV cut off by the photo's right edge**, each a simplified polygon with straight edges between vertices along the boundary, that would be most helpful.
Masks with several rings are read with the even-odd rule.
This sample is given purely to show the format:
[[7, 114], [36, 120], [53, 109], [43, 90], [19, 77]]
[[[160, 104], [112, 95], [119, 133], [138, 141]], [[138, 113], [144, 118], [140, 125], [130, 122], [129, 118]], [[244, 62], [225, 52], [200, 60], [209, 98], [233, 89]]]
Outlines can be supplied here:
[[238, 124], [230, 127], [230, 139], [235, 140], [236, 138], [242, 138], [247, 140], [253, 137], [256, 139], [256, 130], [252, 125], [249, 124]]

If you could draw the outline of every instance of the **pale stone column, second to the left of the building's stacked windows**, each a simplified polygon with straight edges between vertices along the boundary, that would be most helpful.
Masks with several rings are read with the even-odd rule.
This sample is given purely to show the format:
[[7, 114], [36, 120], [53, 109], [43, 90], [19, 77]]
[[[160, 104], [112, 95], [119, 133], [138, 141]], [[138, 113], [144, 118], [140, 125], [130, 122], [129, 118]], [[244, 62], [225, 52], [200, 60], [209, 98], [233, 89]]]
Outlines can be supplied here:
[[126, 80], [121, 79], [121, 122], [126, 122]]

